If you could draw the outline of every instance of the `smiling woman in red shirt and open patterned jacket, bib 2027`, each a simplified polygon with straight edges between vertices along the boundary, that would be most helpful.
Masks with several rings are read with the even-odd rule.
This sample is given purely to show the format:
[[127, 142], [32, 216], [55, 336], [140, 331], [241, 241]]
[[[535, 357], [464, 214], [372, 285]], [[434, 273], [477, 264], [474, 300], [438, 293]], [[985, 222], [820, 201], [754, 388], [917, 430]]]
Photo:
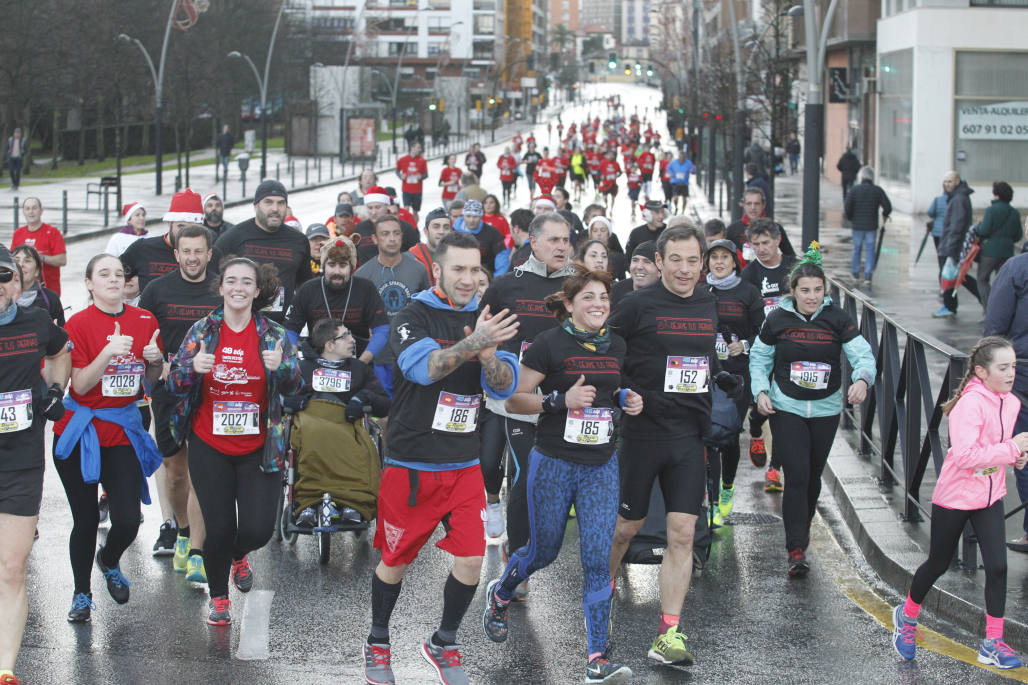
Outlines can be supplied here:
[[189, 477], [207, 528], [211, 625], [231, 622], [229, 572], [249, 592], [247, 554], [274, 528], [286, 442], [282, 396], [303, 383], [285, 329], [260, 313], [278, 292], [273, 265], [229, 259], [221, 269], [224, 303], [189, 329], [168, 378], [178, 399], [172, 435], [187, 437]]

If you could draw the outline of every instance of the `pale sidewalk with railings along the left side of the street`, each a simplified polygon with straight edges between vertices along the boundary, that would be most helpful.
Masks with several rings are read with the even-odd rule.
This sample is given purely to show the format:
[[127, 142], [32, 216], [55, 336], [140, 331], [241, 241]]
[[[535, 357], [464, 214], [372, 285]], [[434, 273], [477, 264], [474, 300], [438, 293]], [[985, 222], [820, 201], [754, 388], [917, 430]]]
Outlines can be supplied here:
[[[540, 120], [545, 120], [544, 116], [549, 113], [541, 113]], [[497, 129], [497, 140], [502, 141], [512, 138], [515, 132], [525, 131], [533, 128], [530, 121], [511, 121]], [[481, 142], [483, 145], [489, 144], [489, 131], [472, 131], [462, 136], [458, 140], [455, 135], [450, 136], [449, 145], [446, 147], [427, 145], [425, 156], [428, 159], [437, 158], [443, 154], [458, 153], [462, 155], [470, 148], [471, 143]], [[430, 139], [427, 139], [427, 143]], [[399, 155], [406, 154], [406, 142], [397, 139], [397, 152]], [[229, 164], [228, 181], [223, 185], [219, 178], [215, 182], [215, 165], [206, 164], [198, 167], [191, 167], [188, 170], [188, 183], [186, 183], [186, 169], [183, 166], [181, 185], [190, 187], [200, 194], [207, 192], [218, 192], [221, 194], [224, 188], [226, 207], [252, 202], [254, 189], [260, 182], [260, 145], [250, 155], [250, 168], [247, 171], [246, 183], [241, 178], [238, 166], [235, 163], [235, 155], [242, 150], [233, 153], [232, 161]], [[379, 141], [377, 144], [378, 160], [370, 165], [379, 174], [383, 171], [396, 168], [397, 155], [393, 154], [392, 141]], [[190, 160], [211, 160], [214, 158], [213, 149], [196, 150], [191, 153]], [[320, 161], [320, 164], [319, 164]], [[74, 161], [65, 161], [65, 165]], [[183, 158], [184, 165], [184, 158]], [[340, 166], [337, 155], [324, 154], [320, 160], [316, 157], [289, 156], [282, 148], [269, 148], [267, 151], [267, 175], [269, 178], [277, 178], [286, 184], [290, 192], [311, 190], [336, 184], [347, 183], [353, 185], [362, 169], [368, 164], [361, 161], [346, 161]], [[111, 159], [111, 173], [103, 175], [114, 175], [114, 160]], [[130, 202], [141, 202], [147, 209], [147, 223], [160, 223], [160, 217], [168, 208], [175, 192], [176, 177], [179, 175], [177, 159], [174, 154], [166, 154], [163, 158], [163, 169], [161, 173], [162, 193], [156, 195], [154, 167], [123, 167], [121, 170], [121, 196], [122, 204]], [[0, 190], [0, 241], [5, 244], [10, 243], [10, 237], [17, 226], [24, 225], [25, 220], [21, 214], [21, 203], [26, 197], [39, 197], [43, 205], [43, 221], [58, 228], [63, 227], [62, 204], [64, 193], [68, 194], [68, 230], [65, 236], [67, 242], [77, 242], [94, 236], [110, 232], [121, 228], [121, 208], [116, 207], [117, 196], [115, 192], [110, 193], [108, 202], [109, 225], [104, 225], [103, 197], [100, 195], [89, 195], [86, 210], [86, 186], [88, 184], [99, 184], [101, 174], [87, 178], [62, 178], [56, 180], [36, 181], [32, 176], [25, 176], [22, 179], [22, 186], [17, 191], [9, 188]], [[342, 189], [342, 188], [340, 188]], [[245, 190], [245, 191], [244, 191]]]

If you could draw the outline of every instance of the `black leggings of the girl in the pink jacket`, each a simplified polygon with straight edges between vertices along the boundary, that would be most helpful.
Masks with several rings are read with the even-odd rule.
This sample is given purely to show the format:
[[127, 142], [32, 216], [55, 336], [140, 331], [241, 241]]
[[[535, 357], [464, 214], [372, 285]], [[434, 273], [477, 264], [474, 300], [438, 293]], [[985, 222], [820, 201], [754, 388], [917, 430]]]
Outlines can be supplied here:
[[928, 558], [914, 572], [910, 599], [921, 604], [928, 590], [950, 568], [964, 525], [970, 521], [978, 537], [985, 563], [985, 611], [1002, 618], [1006, 604], [1006, 545], [1003, 501], [997, 500], [988, 509], [947, 509], [931, 505], [931, 545]]

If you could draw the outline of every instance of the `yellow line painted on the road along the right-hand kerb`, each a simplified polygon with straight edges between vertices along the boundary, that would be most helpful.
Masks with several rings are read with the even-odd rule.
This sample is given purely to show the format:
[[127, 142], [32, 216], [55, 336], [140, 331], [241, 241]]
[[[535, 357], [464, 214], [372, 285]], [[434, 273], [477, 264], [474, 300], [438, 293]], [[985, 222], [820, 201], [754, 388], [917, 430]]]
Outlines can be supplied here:
[[[818, 556], [822, 562], [827, 562], [823, 566], [832, 580], [839, 585], [853, 604], [891, 633], [893, 606], [872, 589], [856, 573], [849, 557], [846, 555], [846, 551], [839, 544], [839, 541], [836, 540], [832, 531], [820, 516], [815, 517], [810, 534], [811, 541], [816, 541], [817, 543], [815, 549]], [[1003, 671], [995, 666], [979, 663], [977, 649], [962, 645], [923, 625], [920, 625], [919, 628], [921, 633], [921, 639], [917, 641], [919, 649], [926, 649], [929, 652], [949, 656], [950, 658], [969, 663], [972, 666], [994, 673], [1009, 680], [1028, 683], [1028, 669], [1021, 668]], [[898, 659], [900, 656], [897, 655], [896, 658]]]

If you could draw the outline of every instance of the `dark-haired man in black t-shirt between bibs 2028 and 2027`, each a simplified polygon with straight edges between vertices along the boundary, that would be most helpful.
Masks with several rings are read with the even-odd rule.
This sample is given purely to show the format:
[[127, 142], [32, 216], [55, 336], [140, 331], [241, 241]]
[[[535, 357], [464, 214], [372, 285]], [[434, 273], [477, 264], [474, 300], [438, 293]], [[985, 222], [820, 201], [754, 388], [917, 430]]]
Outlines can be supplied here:
[[[139, 305], [157, 319], [169, 362], [178, 353], [192, 325], [222, 303], [217, 294], [218, 277], [208, 268], [212, 244], [208, 228], [186, 225], [175, 241], [179, 268], [151, 281], [140, 295]], [[179, 573], [185, 572], [186, 580], [206, 582], [204, 516], [189, 479], [186, 445], [177, 443], [172, 437], [174, 408], [174, 398], [168, 393], [164, 382], [158, 381], [150, 392], [150, 409], [157, 448], [163, 457], [164, 488], [158, 488], [158, 493], [166, 518], [153, 545], [153, 554], [174, 554], [173, 568]], [[175, 514], [174, 519], [167, 515], [168, 509]]]

